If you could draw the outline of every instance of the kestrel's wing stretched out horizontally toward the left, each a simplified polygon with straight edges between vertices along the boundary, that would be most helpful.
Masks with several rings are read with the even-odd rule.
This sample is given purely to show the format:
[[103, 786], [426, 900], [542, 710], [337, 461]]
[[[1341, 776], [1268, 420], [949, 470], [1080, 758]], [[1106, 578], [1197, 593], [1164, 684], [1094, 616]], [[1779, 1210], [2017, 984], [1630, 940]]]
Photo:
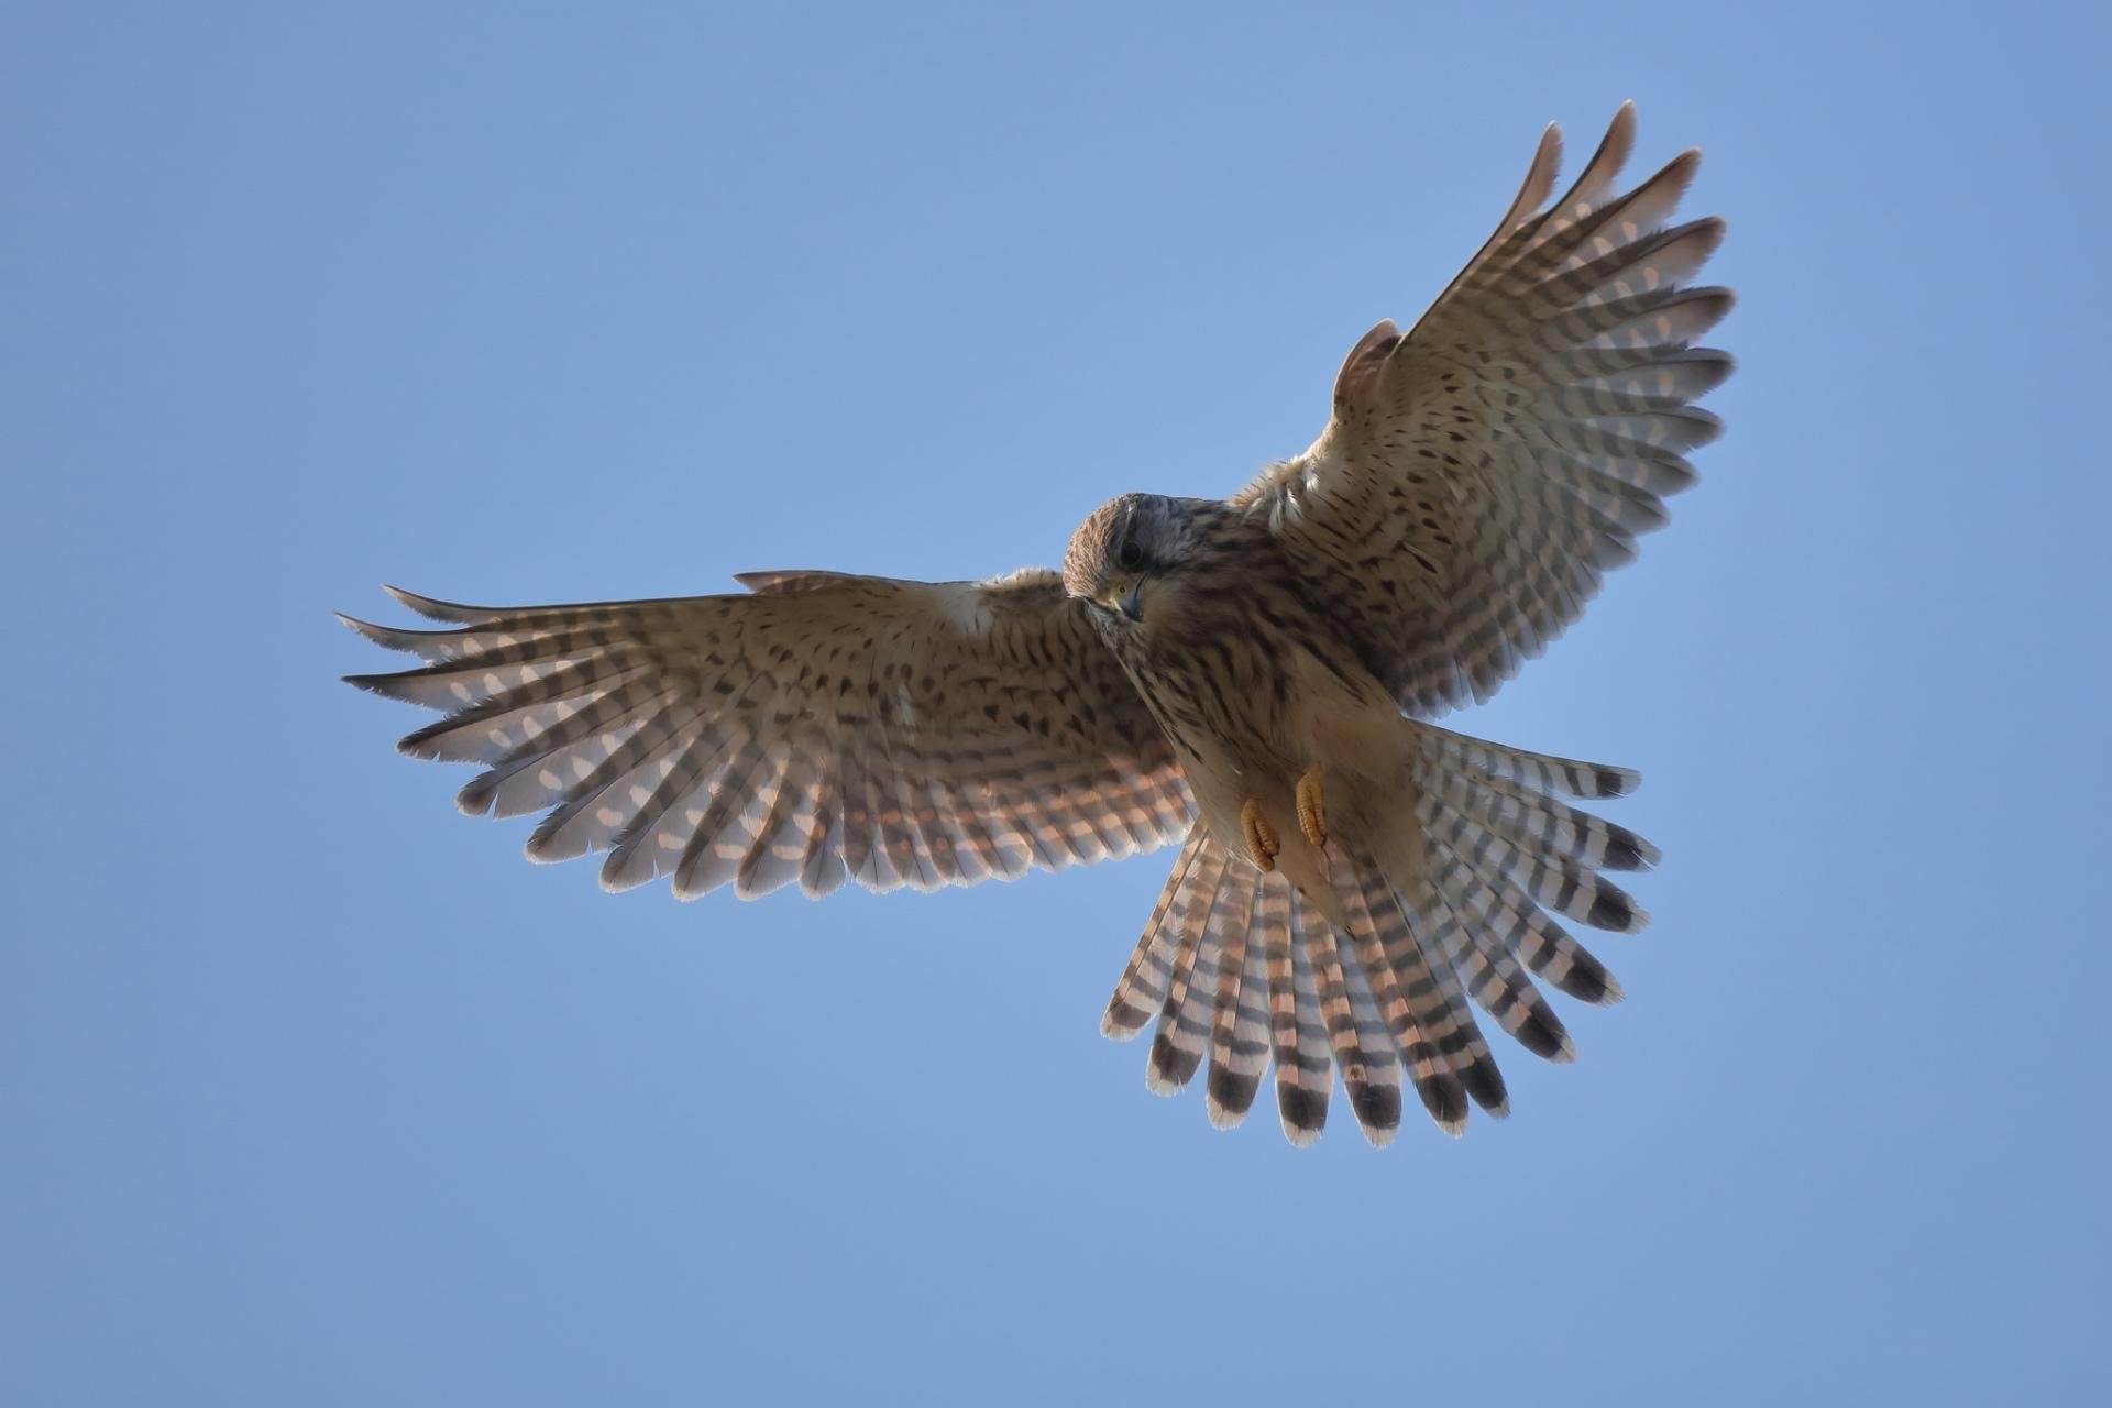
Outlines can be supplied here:
[[1054, 572], [741, 581], [507, 610], [397, 591], [454, 627], [346, 619], [427, 661], [348, 682], [448, 711], [401, 751], [482, 762], [458, 806], [549, 808], [528, 857], [606, 851], [608, 889], [936, 889], [1187, 834], [1172, 751]]

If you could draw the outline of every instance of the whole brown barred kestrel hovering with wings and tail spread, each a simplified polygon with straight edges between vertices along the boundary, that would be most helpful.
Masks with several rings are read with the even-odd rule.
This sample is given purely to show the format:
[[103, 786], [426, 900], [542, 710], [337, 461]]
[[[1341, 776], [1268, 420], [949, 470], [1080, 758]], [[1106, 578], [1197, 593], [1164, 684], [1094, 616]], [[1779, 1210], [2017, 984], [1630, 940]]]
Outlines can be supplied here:
[[1208, 1064], [1238, 1125], [1274, 1064], [1293, 1144], [1333, 1070], [1373, 1144], [1413, 1085], [1449, 1134], [1506, 1112], [1472, 1007], [1571, 1043], [1531, 975], [1620, 988], [1554, 916], [1635, 931], [1601, 872], [1658, 851], [1569, 798], [1637, 775], [1430, 720], [1485, 701], [1694, 481], [1730, 376], [1692, 346], [1723, 222], [1666, 224], [1685, 152], [1633, 190], [1622, 106], [1546, 205], [1554, 127], [1495, 234], [1407, 334], [1343, 361], [1320, 439], [1229, 500], [1124, 494], [1062, 572], [910, 583], [750, 572], [746, 595], [591, 606], [395, 597], [439, 631], [346, 619], [425, 661], [351, 682], [446, 718], [414, 758], [479, 762], [467, 813], [547, 815], [528, 857], [680, 897], [794, 880], [936, 889], [1181, 842], [1100, 1030], [1155, 1022], [1147, 1085]]

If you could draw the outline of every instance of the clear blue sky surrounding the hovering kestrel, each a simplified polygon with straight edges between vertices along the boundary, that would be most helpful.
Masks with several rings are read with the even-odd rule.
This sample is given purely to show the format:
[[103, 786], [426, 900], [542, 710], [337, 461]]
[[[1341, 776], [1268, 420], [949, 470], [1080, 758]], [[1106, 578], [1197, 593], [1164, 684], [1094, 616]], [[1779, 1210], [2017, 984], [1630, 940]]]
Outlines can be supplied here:
[[[2097, 1397], [2108, 51], [8, 6], [0, 1402]], [[1706, 150], [1742, 369], [1673, 530], [1455, 718], [1643, 768], [1666, 853], [1504, 1123], [1151, 1098], [1094, 1024], [1168, 855], [610, 897], [336, 682], [380, 581], [980, 576], [1229, 492], [1624, 97]]]

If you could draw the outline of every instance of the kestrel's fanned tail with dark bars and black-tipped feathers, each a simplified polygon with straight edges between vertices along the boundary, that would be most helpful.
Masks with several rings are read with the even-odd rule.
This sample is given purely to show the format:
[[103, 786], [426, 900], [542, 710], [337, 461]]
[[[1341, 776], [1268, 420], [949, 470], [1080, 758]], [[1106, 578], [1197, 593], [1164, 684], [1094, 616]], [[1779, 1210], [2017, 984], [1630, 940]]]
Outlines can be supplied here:
[[1468, 1110], [1502, 1117], [1504, 1077], [1474, 1022], [1489, 1013], [1550, 1062], [1576, 1058], [1533, 975], [1586, 1003], [1620, 986], [1550, 914], [1633, 933], [1643, 910], [1601, 872], [1658, 849], [1565, 798], [1609, 798], [1637, 775], [1402, 720], [1409, 796], [1337, 830], [1331, 893], [1297, 891], [1221, 846], [1202, 821], [1159, 893], [1100, 1030], [1155, 1022], [1145, 1083], [1183, 1089], [1208, 1062], [1206, 1110], [1246, 1119], [1274, 1062], [1284, 1136], [1326, 1125], [1335, 1070], [1375, 1146], [1400, 1127], [1402, 1085], [1447, 1134]]

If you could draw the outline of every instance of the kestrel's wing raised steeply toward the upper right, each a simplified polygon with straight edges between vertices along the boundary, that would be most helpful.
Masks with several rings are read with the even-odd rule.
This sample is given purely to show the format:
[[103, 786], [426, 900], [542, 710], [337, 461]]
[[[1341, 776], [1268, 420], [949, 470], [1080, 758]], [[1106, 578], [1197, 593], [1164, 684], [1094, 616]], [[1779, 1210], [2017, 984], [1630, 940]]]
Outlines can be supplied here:
[[1626, 194], [1622, 106], [1569, 194], [1550, 127], [1519, 198], [1415, 327], [1350, 350], [1314, 445], [1233, 502], [1267, 513], [1400, 705], [1483, 701], [1582, 614], [1605, 570], [1694, 481], [1730, 376], [1690, 346], [1732, 306], [1687, 287], [1721, 220], [1666, 228], [1696, 152]]

